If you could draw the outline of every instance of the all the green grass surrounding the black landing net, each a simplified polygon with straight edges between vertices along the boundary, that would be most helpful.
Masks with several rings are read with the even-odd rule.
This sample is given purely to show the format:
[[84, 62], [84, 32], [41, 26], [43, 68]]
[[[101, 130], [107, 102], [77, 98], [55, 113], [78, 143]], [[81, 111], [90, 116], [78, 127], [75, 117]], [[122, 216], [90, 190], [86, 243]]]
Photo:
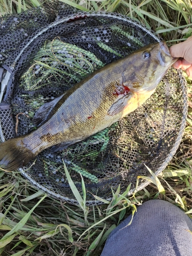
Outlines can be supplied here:
[[[39, 6], [48, 0], [2, 0], [1, 15]], [[173, 1], [66, 1], [80, 10], [118, 12], [136, 18], [159, 33], [169, 44], [191, 35], [191, 2]], [[139, 4], [138, 4], [139, 3]], [[192, 97], [192, 82], [187, 79], [188, 96]], [[187, 125], [173, 160], [159, 177], [152, 175], [151, 184], [132, 197], [113, 191], [111, 202], [86, 206], [86, 191], [82, 179], [83, 197], [68, 176], [79, 205], [70, 205], [44, 195], [19, 173], [0, 172], [0, 255], [100, 255], [109, 233], [132, 214], [141, 203], [151, 199], [169, 201], [191, 217], [192, 211], [192, 100], [189, 99]], [[152, 170], [155, 172], [155, 170]], [[141, 177], [140, 177], [141, 178]], [[143, 177], [142, 177], [143, 178]], [[149, 180], [149, 177], [143, 179]], [[101, 199], [103, 200], [103, 199]]]

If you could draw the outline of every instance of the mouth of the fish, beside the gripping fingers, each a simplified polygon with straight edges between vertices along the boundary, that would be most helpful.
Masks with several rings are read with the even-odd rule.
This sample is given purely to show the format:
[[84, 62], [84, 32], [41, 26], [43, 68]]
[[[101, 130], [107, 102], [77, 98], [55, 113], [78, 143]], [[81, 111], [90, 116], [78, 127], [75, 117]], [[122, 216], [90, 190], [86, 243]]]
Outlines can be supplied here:
[[178, 58], [172, 57], [170, 54], [170, 50], [166, 45], [165, 41], [159, 42], [159, 51], [157, 54], [157, 59], [159, 60], [159, 63], [163, 67], [170, 67], [175, 63]]

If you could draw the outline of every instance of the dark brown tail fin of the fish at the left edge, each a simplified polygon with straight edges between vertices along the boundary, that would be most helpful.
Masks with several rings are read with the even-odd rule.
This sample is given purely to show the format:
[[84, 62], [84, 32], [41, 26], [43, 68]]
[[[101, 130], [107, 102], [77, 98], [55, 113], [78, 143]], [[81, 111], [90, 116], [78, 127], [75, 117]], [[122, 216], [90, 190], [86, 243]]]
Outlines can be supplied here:
[[0, 144], [0, 166], [13, 171], [25, 166], [36, 155], [27, 148], [21, 137], [9, 139]]

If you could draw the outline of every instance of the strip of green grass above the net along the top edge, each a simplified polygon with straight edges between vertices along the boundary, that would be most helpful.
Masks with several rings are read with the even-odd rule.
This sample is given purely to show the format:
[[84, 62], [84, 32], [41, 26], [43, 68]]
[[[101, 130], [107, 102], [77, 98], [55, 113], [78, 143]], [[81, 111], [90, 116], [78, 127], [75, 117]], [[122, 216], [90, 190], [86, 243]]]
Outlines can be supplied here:
[[[0, 13], [16, 13], [54, 0], [2, 0]], [[177, 41], [192, 34], [192, 4], [184, 0], [60, 0], [82, 11], [117, 12], [139, 20], [165, 40]]]

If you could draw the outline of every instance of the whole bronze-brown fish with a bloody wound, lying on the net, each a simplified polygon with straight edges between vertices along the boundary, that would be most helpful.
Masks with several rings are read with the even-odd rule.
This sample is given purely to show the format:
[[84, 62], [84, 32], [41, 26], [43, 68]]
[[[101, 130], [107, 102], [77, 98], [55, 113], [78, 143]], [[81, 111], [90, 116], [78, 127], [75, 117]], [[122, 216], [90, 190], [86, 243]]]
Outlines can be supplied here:
[[93, 72], [41, 106], [36, 130], [3, 142], [0, 164], [15, 170], [45, 148], [62, 150], [104, 130], [143, 104], [176, 60], [157, 42]]

